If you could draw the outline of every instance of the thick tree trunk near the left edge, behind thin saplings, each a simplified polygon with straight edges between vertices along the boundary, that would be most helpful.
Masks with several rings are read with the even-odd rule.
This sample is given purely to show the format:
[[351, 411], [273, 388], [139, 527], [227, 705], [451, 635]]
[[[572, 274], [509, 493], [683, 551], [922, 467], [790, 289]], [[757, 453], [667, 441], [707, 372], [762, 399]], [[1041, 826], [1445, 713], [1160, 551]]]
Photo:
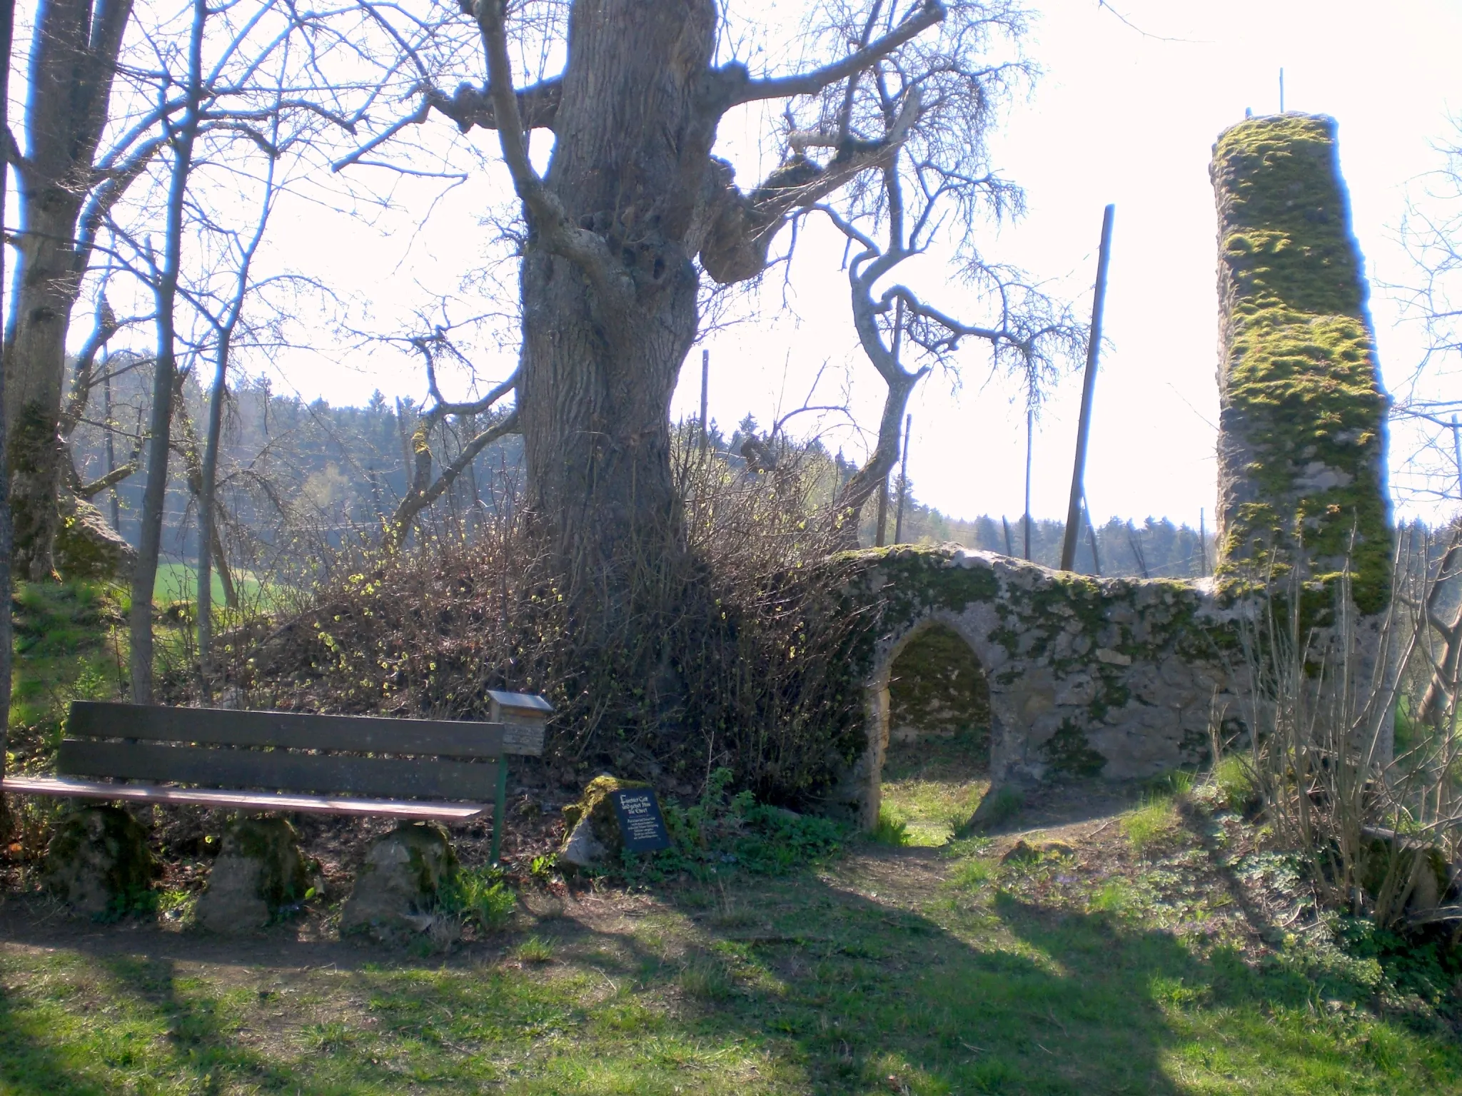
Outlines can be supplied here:
[[66, 329], [91, 259], [77, 241], [92, 164], [107, 121], [113, 72], [132, 0], [42, 0], [31, 45], [31, 98], [20, 164], [15, 307], [6, 333], [6, 463], [18, 574], [54, 564], [66, 374]]

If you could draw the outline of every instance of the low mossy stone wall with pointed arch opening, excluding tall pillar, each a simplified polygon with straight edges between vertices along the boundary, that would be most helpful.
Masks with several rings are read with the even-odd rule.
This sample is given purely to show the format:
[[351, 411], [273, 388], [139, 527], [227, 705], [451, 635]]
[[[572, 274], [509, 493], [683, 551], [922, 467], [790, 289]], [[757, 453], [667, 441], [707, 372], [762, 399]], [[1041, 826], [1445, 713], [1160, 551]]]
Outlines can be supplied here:
[[889, 678], [933, 624], [984, 668], [996, 782], [1132, 779], [1206, 757], [1211, 720], [1237, 715], [1241, 617], [1212, 583], [1094, 579], [955, 545], [873, 548], [842, 560], [849, 604], [871, 612], [857, 671], [867, 753], [841, 798], [879, 810]]

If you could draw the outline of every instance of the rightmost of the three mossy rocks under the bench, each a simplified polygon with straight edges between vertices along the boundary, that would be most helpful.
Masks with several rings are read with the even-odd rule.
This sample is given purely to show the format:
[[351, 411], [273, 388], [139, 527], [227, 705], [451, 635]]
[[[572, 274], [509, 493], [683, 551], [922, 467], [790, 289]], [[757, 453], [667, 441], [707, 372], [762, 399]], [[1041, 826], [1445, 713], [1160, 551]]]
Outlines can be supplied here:
[[[496, 823], [494, 823], [496, 824]], [[341, 912], [341, 934], [402, 943], [430, 926], [458, 859], [437, 823], [398, 826], [377, 837]]]

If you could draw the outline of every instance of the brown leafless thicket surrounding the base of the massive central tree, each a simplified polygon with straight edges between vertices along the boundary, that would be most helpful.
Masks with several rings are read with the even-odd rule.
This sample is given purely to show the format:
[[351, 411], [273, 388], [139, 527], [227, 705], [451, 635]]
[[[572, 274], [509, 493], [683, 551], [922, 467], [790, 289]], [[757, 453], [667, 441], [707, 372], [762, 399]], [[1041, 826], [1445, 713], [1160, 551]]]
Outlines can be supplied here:
[[[687, 552], [642, 564], [596, 630], [520, 507], [468, 541], [336, 558], [313, 604], [268, 636], [235, 636], [240, 703], [481, 719], [488, 688], [556, 707], [550, 761], [608, 766], [683, 794], [725, 766], [770, 801], [816, 798], [863, 747], [849, 652], [863, 620], [841, 590], [817, 446], [768, 446], [759, 471], [677, 438]], [[770, 456], [772, 459], [766, 459]]]

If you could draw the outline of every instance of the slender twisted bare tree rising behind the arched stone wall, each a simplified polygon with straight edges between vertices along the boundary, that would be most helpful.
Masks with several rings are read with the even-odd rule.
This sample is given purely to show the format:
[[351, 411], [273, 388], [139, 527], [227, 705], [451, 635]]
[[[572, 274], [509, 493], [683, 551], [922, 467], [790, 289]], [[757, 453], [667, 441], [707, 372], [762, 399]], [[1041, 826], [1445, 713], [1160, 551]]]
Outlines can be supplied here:
[[[867, 12], [842, 9], [825, 31], [867, 44], [893, 25], [895, 7], [876, 1]], [[1025, 196], [990, 164], [987, 134], [1009, 92], [1032, 72], [1020, 60], [993, 63], [1000, 44], [1025, 31], [1025, 12], [1012, 4], [956, 3], [939, 37], [879, 58], [844, 86], [788, 110], [787, 164], [804, 164], [813, 148], [866, 143], [887, 130], [902, 104], [917, 101], [909, 136], [890, 149], [877, 171], [866, 172], [838, 196], [819, 203], [854, 248], [846, 265], [852, 321], [870, 365], [887, 392], [873, 452], [833, 506], [849, 547], [857, 544], [864, 503], [886, 482], [898, 460], [905, 408], [931, 368], [953, 368], [963, 339], [988, 345], [991, 368], [1019, 373], [1028, 402], [1038, 402], [1060, 362], [1080, 354], [1083, 332], [1070, 311], [1020, 270], [990, 262], [981, 231], [1023, 212]], [[956, 319], [905, 283], [890, 283], [908, 262], [944, 246], [959, 281], [974, 291], [978, 320]], [[912, 351], [917, 365], [902, 361]]]

